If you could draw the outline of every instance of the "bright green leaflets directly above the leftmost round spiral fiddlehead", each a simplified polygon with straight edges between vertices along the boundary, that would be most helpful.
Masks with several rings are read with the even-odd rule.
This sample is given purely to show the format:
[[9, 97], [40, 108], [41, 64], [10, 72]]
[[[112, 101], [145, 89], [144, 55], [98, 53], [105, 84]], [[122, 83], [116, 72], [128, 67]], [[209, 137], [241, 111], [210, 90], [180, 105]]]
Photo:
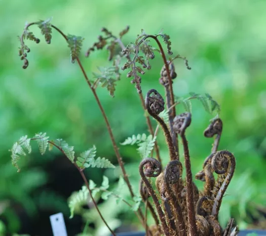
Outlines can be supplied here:
[[121, 145], [134, 145], [137, 144], [138, 148], [137, 151], [141, 158], [146, 158], [150, 154], [150, 152], [154, 149], [156, 136], [153, 137], [153, 135], [146, 135], [138, 134], [133, 135], [132, 137], [128, 137]]

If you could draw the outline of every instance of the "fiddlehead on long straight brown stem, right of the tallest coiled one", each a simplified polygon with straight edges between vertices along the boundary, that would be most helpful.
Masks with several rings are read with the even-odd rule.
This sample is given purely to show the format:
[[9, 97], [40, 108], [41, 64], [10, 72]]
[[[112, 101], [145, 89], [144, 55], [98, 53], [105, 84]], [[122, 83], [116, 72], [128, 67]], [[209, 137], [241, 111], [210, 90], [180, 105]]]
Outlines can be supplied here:
[[197, 235], [197, 226], [195, 218], [195, 208], [194, 208], [194, 186], [192, 180], [191, 172], [191, 161], [189, 157], [189, 150], [187, 145], [187, 140], [185, 137], [185, 129], [191, 124], [191, 113], [182, 113], [174, 118], [174, 131], [181, 136], [183, 149], [184, 149], [184, 159], [185, 159], [185, 169], [186, 169], [186, 205], [187, 205], [187, 216], [188, 216], [188, 226], [191, 236]]

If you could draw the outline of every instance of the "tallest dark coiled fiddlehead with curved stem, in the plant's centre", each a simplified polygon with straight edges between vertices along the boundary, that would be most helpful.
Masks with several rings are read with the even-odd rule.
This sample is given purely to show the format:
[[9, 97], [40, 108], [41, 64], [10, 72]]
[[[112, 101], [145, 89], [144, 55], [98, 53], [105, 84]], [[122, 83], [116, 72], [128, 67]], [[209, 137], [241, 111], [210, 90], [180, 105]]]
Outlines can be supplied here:
[[145, 107], [149, 115], [154, 117], [162, 126], [166, 137], [167, 145], [169, 148], [170, 160], [172, 161], [177, 158], [175, 154], [175, 148], [173, 145], [172, 137], [166, 123], [163, 121], [161, 117], [158, 116], [164, 110], [164, 104], [165, 103], [163, 97], [156, 89], [148, 90], [145, 98]]

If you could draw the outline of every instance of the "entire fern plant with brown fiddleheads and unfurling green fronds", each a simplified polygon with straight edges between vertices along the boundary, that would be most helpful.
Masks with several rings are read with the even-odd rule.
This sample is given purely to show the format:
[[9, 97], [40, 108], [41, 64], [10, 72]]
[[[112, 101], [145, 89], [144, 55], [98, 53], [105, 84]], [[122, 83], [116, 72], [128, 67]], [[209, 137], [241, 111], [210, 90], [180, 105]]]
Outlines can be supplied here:
[[[177, 77], [174, 60], [178, 58], [182, 59], [187, 69], [191, 69], [191, 67], [189, 67], [186, 58], [180, 55], [177, 55], [173, 59], [167, 58], [159, 38], [166, 44], [167, 54], [172, 55], [170, 36], [164, 34], [162, 31], [158, 34], [151, 35], [141, 30], [135, 42], [125, 46], [122, 42], [122, 36], [128, 32], [129, 27], [122, 30], [119, 33], [119, 37], [113, 35], [106, 28], [103, 28], [102, 32], [104, 36], [100, 35], [98, 37], [98, 41], [88, 49], [86, 56], [88, 57], [95, 49], [102, 50], [106, 48], [109, 52], [108, 60], [113, 61], [113, 63], [112, 66], [107, 68], [99, 67], [100, 73], [93, 73], [95, 80], [90, 80], [80, 61], [84, 38], [71, 34], [65, 35], [60, 29], [50, 23], [50, 19], [26, 24], [22, 35], [19, 37], [21, 42], [19, 55], [21, 60], [24, 60], [24, 69], [28, 66], [25, 51], [27, 53], [30, 52], [24, 40], [29, 39], [36, 43], [40, 41], [40, 39], [36, 38], [34, 34], [29, 31], [29, 27], [32, 25], [37, 25], [41, 29], [41, 33], [45, 36], [47, 43], [51, 42], [52, 29], [59, 32], [66, 40], [70, 49], [71, 62], [74, 63], [77, 61], [104, 118], [113, 150], [121, 168], [122, 177], [119, 180], [117, 190], [109, 190], [109, 181], [105, 176], [103, 176], [101, 186], [97, 187], [92, 180], [87, 180], [84, 169], [89, 167], [114, 168], [115, 166], [105, 158], [96, 158], [95, 146], [77, 157], [75, 156], [72, 146], [69, 146], [62, 139], [56, 139], [56, 141], [50, 140], [49, 137], [46, 136], [46, 133], [37, 133], [32, 138], [28, 138], [25, 135], [13, 145], [10, 150], [12, 163], [18, 171], [20, 171], [18, 166], [19, 159], [31, 153], [31, 140], [37, 142], [42, 155], [45, 154], [48, 147], [49, 151], [51, 151], [53, 147], [58, 149], [73, 166], [79, 170], [85, 182], [85, 186], [83, 186], [79, 192], [73, 193], [69, 199], [70, 218], [73, 217], [74, 213], [81, 213], [82, 206], [86, 203], [88, 204], [88, 200], [92, 200], [101, 220], [112, 235], [116, 235], [116, 233], [109, 226], [108, 222], [106, 222], [103, 214], [99, 210], [95, 200], [97, 196], [100, 196], [103, 200], [107, 200], [108, 197], [113, 196], [117, 199], [117, 202], [123, 201], [127, 204], [136, 214], [147, 236], [237, 235], [238, 228], [235, 226], [234, 219], [229, 219], [225, 229], [222, 229], [218, 222], [218, 213], [222, 197], [233, 177], [236, 166], [235, 157], [232, 153], [224, 150], [218, 151], [223, 125], [219, 118], [220, 107], [208, 93], [202, 96], [193, 92], [190, 93], [191, 97], [188, 98], [179, 98], [175, 96], [172, 86], [173, 80]], [[151, 45], [151, 40], [156, 43], [158, 48]], [[120, 50], [117, 50], [118, 47]], [[158, 77], [160, 77], [160, 84], [165, 88], [166, 102], [156, 89], [148, 90], [144, 99], [141, 88], [141, 75], [145, 73], [145, 70], [151, 69], [150, 60], [153, 60], [158, 52], [163, 60], [163, 67]], [[126, 59], [126, 62], [123, 66], [120, 66], [121, 60], [124, 59]], [[102, 87], [106, 87], [113, 97], [116, 83], [121, 77], [120, 70], [126, 69], [129, 69], [127, 77], [132, 78], [131, 83], [135, 84], [137, 89], [149, 130], [148, 135], [145, 133], [133, 135], [121, 143], [121, 145], [138, 146], [137, 151], [141, 157], [138, 170], [141, 177], [138, 194], [133, 191], [129, 181], [129, 175], [125, 170], [124, 162], [119, 152], [117, 141], [112, 133], [111, 125], [97, 93], [97, 86], [100, 84]], [[210, 155], [203, 164], [203, 170], [196, 175], [196, 179], [205, 182], [202, 191], [198, 190], [193, 181], [189, 147], [185, 135], [186, 129], [192, 122], [192, 99], [199, 100], [208, 113], [217, 113], [204, 131], [205, 137], [215, 136], [215, 139]], [[185, 113], [176, 114], [175, 107], [178, 104], [183, 105], [186, 111]], [[167, 108], [166, 110], [165, 105]], [[155, 119], [158, 123], [155, 130], [150, 117]], [[165, 143], [169, 151], [169, 162], [164, 168], [162, 166], [159, 146], [156, 140], [157, 134], [160, 131], [159, 127], [161, 127], [165, 135]], [[180, 147], [178, 145], [178, 138], [181, 139], [183, 146], [184, 166], [186, 170], [186, 177], [184, 180], [182, 179], [183, 165], [179, 161]], [[156, 153], [156, 158], [153, 157], [153, 151]], [[216, 175], [214, 175], [214, 172]], [[216, 178], [214, 176], [216, 176]], [[151, 184], [151, 177], [156, 177], [156, 190]], [[131, 195], [130, 200], [124, 199], [120, 195], [119, 189], [121, 189], [122, 185], [128, 187]], [[142, 207], [140, 207], [141, 202], [143, 202]], [[143, 213], [143, 207], [145, 213]], [[147, 223], [146, 215], [148, 211], [154, 218], [153, 225]]]

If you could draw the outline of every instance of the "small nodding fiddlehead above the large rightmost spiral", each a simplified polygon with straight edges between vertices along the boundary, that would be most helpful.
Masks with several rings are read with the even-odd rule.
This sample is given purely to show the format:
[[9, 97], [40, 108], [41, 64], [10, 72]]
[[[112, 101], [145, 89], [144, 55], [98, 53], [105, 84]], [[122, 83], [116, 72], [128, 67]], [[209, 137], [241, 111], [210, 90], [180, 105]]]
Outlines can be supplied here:
[[211, 150], [212, 153], [215, 153], [218, 150], [221, 132], [222, 132], [222, 121], [220, 118], [212, 120], [210, 125], [204, 130], [205, 137], [213, 137], [215, 134], [217, 134], [214, 140], [214, 144], [212, 146]]

